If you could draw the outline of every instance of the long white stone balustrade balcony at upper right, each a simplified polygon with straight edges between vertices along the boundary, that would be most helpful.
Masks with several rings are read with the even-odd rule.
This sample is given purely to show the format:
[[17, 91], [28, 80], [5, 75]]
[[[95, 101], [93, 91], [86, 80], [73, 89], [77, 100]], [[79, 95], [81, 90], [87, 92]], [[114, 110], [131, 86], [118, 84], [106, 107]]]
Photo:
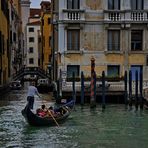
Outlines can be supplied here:
[[105, 10], [105, 23], [147, 23], [148, 10]]

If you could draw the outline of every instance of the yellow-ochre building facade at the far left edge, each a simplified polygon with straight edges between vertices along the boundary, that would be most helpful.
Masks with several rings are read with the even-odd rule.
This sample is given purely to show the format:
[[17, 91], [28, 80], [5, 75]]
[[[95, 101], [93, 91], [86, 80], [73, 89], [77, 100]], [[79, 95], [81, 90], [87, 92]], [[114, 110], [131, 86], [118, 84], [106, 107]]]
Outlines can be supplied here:
[[9, 81], [9, 13], [8, 0], [0, 1], [0, 86]]

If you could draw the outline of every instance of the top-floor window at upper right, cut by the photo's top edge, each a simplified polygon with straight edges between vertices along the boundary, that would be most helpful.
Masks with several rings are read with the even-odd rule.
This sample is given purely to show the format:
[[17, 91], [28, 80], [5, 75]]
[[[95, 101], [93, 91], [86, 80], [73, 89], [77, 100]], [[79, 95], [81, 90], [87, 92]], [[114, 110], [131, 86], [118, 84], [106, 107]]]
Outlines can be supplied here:
[[143, 0], [131, 0], [132, 10], [143, 10], [144, 2]]

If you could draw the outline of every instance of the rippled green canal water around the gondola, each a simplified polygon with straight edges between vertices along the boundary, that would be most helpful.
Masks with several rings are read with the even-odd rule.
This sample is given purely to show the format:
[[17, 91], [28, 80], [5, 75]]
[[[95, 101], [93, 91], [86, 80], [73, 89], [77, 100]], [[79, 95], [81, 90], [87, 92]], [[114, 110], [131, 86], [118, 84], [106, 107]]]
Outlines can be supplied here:
[[[60, 127], [31, 127], [21, 110], [26, 89], [0, 96], [0, 148], [147, 148], [148, 110], [125, 109], [107, 104], [91, 110], [75, 106]], [[50, 104], [48, 96], [44, 103]], [[49, 99], [51, 100], [51, 99]], [[42, 103], [36, 98], [35, 108]]]

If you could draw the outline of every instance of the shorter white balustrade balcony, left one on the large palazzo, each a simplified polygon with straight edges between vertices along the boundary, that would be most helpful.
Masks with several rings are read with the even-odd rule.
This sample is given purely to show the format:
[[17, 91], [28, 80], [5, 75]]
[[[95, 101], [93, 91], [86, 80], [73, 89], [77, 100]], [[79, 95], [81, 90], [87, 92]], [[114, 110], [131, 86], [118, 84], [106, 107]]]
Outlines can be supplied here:
[[85, 11], [80, 9], [63, 9], [62, 21], [66, 23], [81, 23], [85, 21]]

